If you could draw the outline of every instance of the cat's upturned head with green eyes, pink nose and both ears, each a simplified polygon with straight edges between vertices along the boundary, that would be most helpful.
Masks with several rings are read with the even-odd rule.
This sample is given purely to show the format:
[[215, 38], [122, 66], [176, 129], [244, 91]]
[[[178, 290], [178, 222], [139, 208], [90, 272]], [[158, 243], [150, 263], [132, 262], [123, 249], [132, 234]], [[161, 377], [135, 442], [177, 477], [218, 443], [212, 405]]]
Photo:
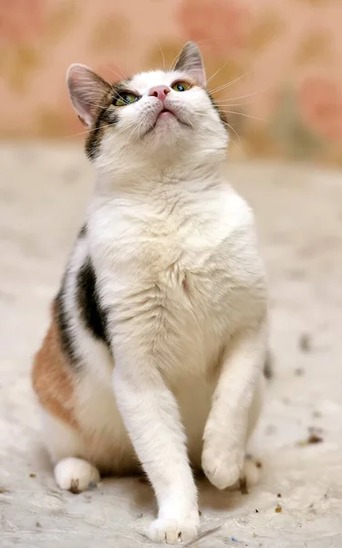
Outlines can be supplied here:
[[98, 165], [163, 155], [221, 158], [228, 134], [223, 113], [206, 90], [199, 48], [188, 42], [175, 68], [142, 72], [109, 84], [89, 68], [72, 65], [67, 87], [88, 129], [86, 151]]

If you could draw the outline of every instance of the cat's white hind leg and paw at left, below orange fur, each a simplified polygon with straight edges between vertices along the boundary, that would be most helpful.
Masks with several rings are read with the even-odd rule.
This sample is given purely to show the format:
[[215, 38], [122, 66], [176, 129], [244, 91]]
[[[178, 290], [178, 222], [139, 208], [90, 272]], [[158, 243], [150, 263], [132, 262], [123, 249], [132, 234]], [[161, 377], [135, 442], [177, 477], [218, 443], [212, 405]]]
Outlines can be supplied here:
[[85, 450], [83, 440], [74, 427], [57, 416], [43, 412], [43, 432], [47, 449], [54, 464], [57, 486], [63, 490], [80, 492], [99, 481], [98, 469], [80, 458]]

